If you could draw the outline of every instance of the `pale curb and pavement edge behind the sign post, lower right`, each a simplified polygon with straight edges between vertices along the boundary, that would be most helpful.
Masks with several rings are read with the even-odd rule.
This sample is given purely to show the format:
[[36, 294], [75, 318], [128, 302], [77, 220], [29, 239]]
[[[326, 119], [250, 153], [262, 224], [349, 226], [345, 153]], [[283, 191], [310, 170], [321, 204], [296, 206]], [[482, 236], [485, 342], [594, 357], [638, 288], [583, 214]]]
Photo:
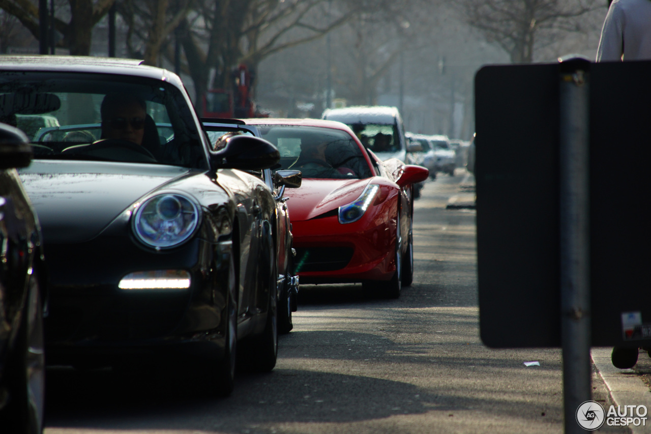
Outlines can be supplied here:
[[[590, 350], [592, 362], [599, 371], [615, 405], [645, 405], [651, 410], [651, 393], [633, 369], [618, 369], [611, 362], [612, 347], [594, 347]], [[651, 415], [646, 426], [629, 426], [633, 434], [651, 434]]]

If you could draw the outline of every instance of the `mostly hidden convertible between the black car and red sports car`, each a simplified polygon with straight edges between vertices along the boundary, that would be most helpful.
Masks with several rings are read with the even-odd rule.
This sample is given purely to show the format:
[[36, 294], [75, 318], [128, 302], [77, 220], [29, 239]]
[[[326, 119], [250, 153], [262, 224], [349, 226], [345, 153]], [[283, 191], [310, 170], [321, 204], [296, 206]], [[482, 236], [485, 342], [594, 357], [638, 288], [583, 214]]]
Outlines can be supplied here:
[[[202, 119], [204, 130], [208, 134], [210, 143], [217, 149], [223, 144], [225, 137], [244, 134], [260, 137], [255, 126], [245, 125], [238, 119]], [[216, 150], [216, 149], [215, 149]], [[301, 186], [301, 173], [299, 171], [281, 172], [283, 176], [274, 176], [270, 169], [259, 172], [251, 172], [260, 177], [264, 183], [273, 191], [276, 200], [275, 220], [278, 222], [279, 230], [275, 239], [276, 257], [278, 258], [278, 331], [289, 333], [294, 324], [292, 312], [297, 310], [299, 280], [294, 272], [294, 256], [296, 250], [292, 248], [292, 231], [290, 231], [290, 219], [287, 209], [287, 197], [284, 196], [285, 188], [298, 188]]]

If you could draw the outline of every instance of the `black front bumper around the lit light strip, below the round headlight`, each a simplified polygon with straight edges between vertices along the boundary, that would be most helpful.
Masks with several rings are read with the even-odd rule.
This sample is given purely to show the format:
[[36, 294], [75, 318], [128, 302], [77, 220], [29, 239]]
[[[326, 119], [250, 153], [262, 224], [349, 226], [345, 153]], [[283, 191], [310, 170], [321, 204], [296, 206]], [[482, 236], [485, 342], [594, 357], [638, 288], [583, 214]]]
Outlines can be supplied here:
[[[201, 352], [206, 343], [223, 347], [230, 241], [194, 239], [173, 251], [154, 252], [124, 237], [98, 237], [46, 244], [45, 254], [51, 282], [49, 364], [94, 355], [169, 353], [173, 347]], [[127, 274], [147, 270], [185, 270], [190, 287], [118, 288]]]

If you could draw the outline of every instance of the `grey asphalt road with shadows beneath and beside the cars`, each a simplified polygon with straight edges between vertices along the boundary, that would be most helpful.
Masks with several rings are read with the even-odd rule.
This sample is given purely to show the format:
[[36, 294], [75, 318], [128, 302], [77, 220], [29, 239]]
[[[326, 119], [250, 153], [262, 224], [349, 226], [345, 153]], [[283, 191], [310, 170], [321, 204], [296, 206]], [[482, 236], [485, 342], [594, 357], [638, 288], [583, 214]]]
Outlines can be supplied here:
[[561, 433], [560, 350], [479, 339], [475, 211], [446, 208], [462, 172], [422, 191], [398, 300], [302, 285], [276, 368], [242, 373], [227, 399], [165, 371], [50, 370], [46, 434]]

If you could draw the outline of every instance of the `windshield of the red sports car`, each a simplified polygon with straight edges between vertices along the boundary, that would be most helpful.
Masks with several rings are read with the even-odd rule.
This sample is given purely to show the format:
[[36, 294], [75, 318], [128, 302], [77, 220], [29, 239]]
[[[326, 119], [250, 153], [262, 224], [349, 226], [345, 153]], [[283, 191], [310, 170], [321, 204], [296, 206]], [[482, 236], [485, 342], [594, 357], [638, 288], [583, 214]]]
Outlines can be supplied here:
[[362, 149], [345, 131], [292, 125], [259, 125], [258, 130], [280, 151], [281, 169], [300, 170], [303, 178], [372, 177]]

